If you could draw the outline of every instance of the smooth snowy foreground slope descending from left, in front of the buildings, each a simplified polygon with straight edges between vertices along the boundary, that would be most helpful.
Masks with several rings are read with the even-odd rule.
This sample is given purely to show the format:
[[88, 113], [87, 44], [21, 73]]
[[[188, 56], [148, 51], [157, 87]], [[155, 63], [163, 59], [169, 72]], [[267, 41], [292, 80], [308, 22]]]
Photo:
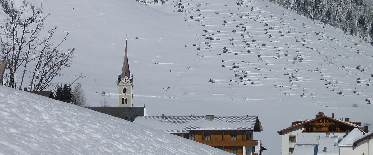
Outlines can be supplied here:
[[84, 107], [0, 86], [0, 154], [228, 155]]

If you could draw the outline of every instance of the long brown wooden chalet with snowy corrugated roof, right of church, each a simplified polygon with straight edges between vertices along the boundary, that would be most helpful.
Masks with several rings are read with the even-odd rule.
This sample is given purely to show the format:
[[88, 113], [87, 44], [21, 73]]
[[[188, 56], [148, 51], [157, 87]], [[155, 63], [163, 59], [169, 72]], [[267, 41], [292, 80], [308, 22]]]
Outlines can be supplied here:
[[260, 154], [254, 149], [260, 141], [253, 140], [263, 130], [257, 116], [137, 116], [134, 122], [233, 154]]

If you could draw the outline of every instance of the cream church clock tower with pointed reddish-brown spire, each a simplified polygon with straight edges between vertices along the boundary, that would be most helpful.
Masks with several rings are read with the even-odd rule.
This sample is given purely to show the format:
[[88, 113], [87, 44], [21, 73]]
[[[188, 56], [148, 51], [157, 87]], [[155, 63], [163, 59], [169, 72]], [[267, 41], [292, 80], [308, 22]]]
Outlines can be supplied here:
[[133, 79], [129, 73], [129, 64], [127, 56], [127, 39], [124, 53], [122, 74], [118, 76], [118, 107], [133, 106]]

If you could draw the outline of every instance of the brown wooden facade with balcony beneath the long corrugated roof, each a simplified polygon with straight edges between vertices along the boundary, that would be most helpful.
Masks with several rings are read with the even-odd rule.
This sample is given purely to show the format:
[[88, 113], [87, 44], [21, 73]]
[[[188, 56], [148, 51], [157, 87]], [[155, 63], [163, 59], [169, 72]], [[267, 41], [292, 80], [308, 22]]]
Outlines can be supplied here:
[[243, 155], [243, 146], [258, 146], [253, 132], [245, 130], [191, 130], [189, 133], [172, 133], [236, 155]]

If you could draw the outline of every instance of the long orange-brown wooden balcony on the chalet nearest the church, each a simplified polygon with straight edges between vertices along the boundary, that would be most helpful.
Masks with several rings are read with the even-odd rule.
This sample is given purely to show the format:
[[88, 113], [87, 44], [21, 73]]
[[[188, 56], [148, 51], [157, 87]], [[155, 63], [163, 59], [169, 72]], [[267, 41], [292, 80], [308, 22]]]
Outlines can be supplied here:
[[196, 141], [210, 146], [257, 146], [258, 141]]

